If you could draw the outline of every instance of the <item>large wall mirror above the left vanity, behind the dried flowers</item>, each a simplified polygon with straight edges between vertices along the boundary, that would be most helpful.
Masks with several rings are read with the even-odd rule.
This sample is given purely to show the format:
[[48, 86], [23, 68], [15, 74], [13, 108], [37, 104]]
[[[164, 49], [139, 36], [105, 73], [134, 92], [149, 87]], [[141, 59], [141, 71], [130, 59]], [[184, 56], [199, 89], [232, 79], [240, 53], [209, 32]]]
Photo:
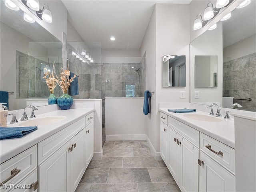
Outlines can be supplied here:
[[[22, 109], [28, 98], [47, 98], [46, 67], [62, 68], [62, 42], [37, 22], [29, 23], [22, 10], [1, 8], [1, 91], [9, 92], [9, 110]], [[59, 90], [56, 90], [58, 96]]]

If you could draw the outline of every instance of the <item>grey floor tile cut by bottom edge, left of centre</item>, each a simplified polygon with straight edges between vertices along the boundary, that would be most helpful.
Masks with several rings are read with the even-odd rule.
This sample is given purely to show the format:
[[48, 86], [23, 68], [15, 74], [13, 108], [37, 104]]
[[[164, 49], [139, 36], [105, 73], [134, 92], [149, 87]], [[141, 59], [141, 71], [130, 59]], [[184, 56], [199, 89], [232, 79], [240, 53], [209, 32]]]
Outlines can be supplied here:
[[135, 183], [92, 184], [90, 192], [138, 192]]

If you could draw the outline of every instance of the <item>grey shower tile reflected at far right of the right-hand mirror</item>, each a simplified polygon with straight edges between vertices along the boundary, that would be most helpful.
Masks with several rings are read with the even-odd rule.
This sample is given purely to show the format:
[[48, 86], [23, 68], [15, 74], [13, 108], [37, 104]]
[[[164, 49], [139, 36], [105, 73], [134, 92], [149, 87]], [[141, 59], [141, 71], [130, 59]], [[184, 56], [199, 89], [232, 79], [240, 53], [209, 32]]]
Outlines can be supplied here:
[[223, 63], [223, 97], [234, 97], [243, 106], [239, 109], [256, 112], [256, 53]]

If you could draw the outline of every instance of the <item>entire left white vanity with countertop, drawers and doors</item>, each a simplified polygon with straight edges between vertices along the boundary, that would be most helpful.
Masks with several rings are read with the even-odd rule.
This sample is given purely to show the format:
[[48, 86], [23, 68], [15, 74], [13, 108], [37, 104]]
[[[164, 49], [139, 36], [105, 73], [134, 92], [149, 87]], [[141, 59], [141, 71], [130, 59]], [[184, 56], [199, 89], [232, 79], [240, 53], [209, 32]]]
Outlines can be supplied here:
[[9, 124], [38, 129], [1, 140], [1, 191], [74, 191], [94, 154], [94, 110], [54, 110]]

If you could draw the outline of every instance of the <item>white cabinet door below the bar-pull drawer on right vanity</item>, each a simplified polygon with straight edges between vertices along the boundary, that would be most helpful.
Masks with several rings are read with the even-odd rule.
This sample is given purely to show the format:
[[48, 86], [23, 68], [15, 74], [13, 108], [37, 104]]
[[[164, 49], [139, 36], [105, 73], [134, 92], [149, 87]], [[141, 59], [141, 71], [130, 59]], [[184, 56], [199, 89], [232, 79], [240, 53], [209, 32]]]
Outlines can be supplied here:
[[226, 192], [236, 191], [235, 176], [224, 169], [220, 164], [200, 151], [200, 160], [204, 162], [200, 166], [199, 191]]

